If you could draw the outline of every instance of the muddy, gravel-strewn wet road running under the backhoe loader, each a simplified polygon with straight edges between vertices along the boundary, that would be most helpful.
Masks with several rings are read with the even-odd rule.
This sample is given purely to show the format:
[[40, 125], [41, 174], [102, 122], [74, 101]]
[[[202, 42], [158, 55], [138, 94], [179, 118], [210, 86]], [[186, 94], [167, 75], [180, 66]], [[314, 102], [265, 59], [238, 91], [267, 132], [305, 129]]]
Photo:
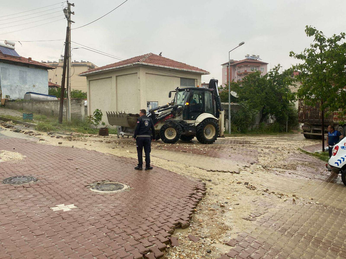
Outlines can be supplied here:
[[[137, 157], [131, 138], [57, 135], [45, 133], [39, 142]], [[163, 258], [346, 258], [346, 186], [298, 150], [316, 143], [300, 133], [226, 137], [213, 145], [153, 142], [153, 166], [207, 183], [190, 226], [174, 232], [179, 246]]]

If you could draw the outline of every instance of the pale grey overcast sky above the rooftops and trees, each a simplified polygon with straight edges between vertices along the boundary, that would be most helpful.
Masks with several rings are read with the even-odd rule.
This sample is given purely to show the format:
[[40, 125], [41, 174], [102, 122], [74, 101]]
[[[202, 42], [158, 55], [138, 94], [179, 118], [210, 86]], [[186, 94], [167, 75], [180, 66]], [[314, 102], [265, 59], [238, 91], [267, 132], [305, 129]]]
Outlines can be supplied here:
[[[71, 0], [75, 23], [82, 26], [99, 18], [124, 0]], [[15, 0], [2, 3], [0, 16], [27, 11], [56, 0]], [[64, 39], [66, 20], [60, 20], [36, 28], [11, 32], [64, 18], [62, 11], [34, 19], [26, 19], [59, 9], [26, 15], [59, 7], [51, 6], [18, 15], [0, 17], [0, 27], [18, 25], [47, 19], [27, 25], [0, 29], [0, 40], [56, 40]], [[284, 68], [297, 63], [289, 57], [291, 50], [301, 52], [308, 47], [311, 38], [304, 35], [304, 27], [312, 25], [325, 35], [346, 31], [346, 1], [326, 0], [128, 0], [104, 18], [80, 29], [72, 30], [72, 41], [110, 53], [130, 58], [149, 52], [210, 71], [202, 81], [214, 77], [221, 81], [220, 64], [231, 59], [244, 59], [246, 54], [260, 55], [269, 63], [268, 69], [280, 63]], [[55, 17], [61, 15], [60, 17]], [[53, 18], [55, 17], [55, 18]], [[6, 19], [6, 20], [4, 20]], [[13, 22], [18, 21], [18, 22]], [[4, 23], [7, 24], [4, 24]], [[7, 34], [2, 34], [11, 32]], [[0, 41], [1, 42], [1, 41]], [[75, 46], [72, 46], [75, 47]], [[19, 55], [34, 60], [57, 60], [63, 49], [63, 40], [51, 42], [16, 43]], [[84, 49], [72, 51], [73, 60], [91, 61], [97, 66], [117, 62]]]

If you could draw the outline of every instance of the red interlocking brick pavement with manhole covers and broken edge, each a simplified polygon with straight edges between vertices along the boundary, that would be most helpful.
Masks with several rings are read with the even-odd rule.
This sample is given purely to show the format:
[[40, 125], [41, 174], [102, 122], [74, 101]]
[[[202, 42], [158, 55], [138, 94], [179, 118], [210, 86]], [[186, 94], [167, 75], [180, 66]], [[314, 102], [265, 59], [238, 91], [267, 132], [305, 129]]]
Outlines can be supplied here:
[[[0, 139], [0, 145], [26, 156], [1, 162], [1, 180], [38, 178], [0, 183], [0, 258], [159, 258], [206, 192], [204, 183], [161, 168], [135, 171], [133, 159], [20, 139]], [[130, 189], [87, 188], [102, 180]], [[50, 209], [62, 203], [77, 208]]]

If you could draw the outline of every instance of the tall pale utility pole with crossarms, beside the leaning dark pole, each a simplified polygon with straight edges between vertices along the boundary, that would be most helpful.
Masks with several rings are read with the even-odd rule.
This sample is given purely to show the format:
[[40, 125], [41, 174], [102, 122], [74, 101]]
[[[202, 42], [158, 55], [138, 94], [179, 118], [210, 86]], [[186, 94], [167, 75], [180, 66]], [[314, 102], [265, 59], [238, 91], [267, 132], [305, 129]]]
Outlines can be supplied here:
[[70, 75], [71, 75], [71, 23], [74, 21], [71, 20], [71, 14], [74, 15], [74, 12], [71, 12], [71, 6], [74, 7], [74, 3], [70, 3], [69, 1], [67, 2], [67, 7], [64, 8], [64, 15], [67, 20], [67, 27], [70, 29], [69, 33], [69, 43], [68, 43], [68, 53], [67, 53], [67, 105], [66, 105], [66, 117], [67, 121], [71, 121], [71, 80], [70, 80]]

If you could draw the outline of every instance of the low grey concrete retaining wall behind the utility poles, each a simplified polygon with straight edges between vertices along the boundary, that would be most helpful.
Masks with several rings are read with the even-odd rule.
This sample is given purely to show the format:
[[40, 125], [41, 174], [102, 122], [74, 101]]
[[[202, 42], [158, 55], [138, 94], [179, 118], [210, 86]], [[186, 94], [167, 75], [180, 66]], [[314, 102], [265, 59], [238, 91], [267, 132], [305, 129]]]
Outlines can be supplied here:
[[[66, 116], [66, 104], [64, 101], [63, 115]], [[30, 102], [8, 102], [6, 107], [10, 109], [23, 110], [34, 114], [44, 114], [48, 116], [58, 116], [60, 100], [53, 101], [30, 101]], [[71, 118], [83, 119], [84, 99], [71, 99]]]

